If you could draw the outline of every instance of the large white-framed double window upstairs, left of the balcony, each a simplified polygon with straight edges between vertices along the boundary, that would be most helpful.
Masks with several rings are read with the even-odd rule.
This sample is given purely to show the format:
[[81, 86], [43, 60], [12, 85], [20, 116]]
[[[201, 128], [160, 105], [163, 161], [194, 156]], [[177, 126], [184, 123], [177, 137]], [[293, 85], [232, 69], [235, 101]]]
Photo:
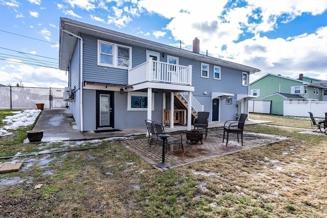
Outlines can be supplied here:
[[98, 40], [98, 65], [131, 68], [132, 47]]

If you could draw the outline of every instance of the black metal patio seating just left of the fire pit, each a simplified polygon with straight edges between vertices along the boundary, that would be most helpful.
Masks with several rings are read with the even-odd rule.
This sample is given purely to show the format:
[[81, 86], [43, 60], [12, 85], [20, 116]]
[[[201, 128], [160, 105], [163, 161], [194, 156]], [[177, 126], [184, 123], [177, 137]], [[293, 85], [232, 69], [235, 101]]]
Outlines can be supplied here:
[[[152, 121], [149, 119], [146, 119], [145, 123], [147, 125], [148, 134], [149, 134], [149, 138], [148, 138], [149, 146], [151, 147], [151, 145], [153, 144], [153, 141], [156, 141], [157, 144], [162, 145], [162, 138], [160, 138], [158, 136], [161, 133], [165, 132], [165, 129], [164, 129], [164, 126], [162, 126], [162, 123], [159, 121]], [[171, 145], [174, 147], [175, 144], [178, 145], [178, 149], [169, 150], [169, 147]], [[172, 152], [172, 151], [178, 151], [178, 150], [184, 151], [182, 135], [180, 135], [180, 137], [169, 136], [166, 141], [166, 153], [167, 153], [167, 151]]]

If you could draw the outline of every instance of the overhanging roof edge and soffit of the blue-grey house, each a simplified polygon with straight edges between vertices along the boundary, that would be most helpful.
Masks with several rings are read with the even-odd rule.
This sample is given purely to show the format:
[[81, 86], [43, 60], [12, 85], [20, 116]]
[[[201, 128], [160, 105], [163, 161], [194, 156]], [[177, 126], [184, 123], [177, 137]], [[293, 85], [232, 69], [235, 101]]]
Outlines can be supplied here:
[[188, 50], [179, 49], [170, 45], [161, 44], [158, 42], [150, 41], [147, 39], [131, 36], [128, 34], [116, 32], [113, 30], [108, 30], [105, 28], [97, 27], [94, 25], [89, 25], [80, 21], [60, 18], [60, 33], [59, 33], [59, 69], [66, 70], [69, 66], [69, 60], [71, 60], [74, 47], [77, 38], [72, 34], [80, 36], [80, 33], [87, 34], [90, 36], [99, 37], [102, 39], [108, 39], [112, 41], [119, 41], [126, 44], [133, 44], [146, 49], [156, 49], [162, 53], [171, 53], [178, 55], [180, 57], [191, 58], [207, 63], [214, 63], [219, 66], [225, 66], [230, 68], [239, 69], [250, 74], [254, 72], [260, 72], [260, 69], [253, 68], [250, 66], [234, 63], [231, 61], [225, 61], [219, 58], [214, 58], [211, 56], [206, 56], [198, 53], [194, 53]]

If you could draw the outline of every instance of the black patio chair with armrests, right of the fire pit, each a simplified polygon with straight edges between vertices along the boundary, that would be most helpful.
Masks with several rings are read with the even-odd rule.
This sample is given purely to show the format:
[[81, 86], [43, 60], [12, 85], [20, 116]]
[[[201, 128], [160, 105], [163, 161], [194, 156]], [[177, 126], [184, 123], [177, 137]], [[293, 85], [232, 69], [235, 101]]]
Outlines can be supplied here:
[[[237, 134], [237, 142], [240, 143], [239, 141], [239, 134], [241, 134], [241, 142], [243, 146], [243, 129], [244, 129], [244, 124], [245, 124], [245, 119], [247, 117], [246, 113], [242, 113], [240, 116], [239, 121], [235, 120], [227, 120], [224, 123], [224, 137], [223, 137], [223, 142], [226, 139], [226, 146], [228, 143], [228, 136], [229, 133], [236, 133]], [[225, 132], [227, 133], [227, 138], [225, 137]]]

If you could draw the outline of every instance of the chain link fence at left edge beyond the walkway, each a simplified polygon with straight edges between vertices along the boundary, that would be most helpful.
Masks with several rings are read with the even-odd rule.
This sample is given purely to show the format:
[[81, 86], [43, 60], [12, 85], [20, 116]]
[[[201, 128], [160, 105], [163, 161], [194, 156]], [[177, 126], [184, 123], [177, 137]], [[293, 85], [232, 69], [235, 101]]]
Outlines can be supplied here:
[[44, 108], [64, 108], [63, 88], [37, 88], [0, 86], [0, 110], [36, 109], [36, 103]]

